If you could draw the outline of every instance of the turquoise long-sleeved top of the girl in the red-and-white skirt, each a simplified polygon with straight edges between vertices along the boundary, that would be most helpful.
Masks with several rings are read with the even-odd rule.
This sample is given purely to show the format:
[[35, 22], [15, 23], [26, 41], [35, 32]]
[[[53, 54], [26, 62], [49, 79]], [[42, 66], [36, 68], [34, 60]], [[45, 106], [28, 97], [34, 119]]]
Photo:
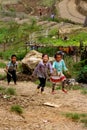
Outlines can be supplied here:
[[57, 72], [62, 72], [67, 71], [68, 69], [66, 68], [64, 60], [60, 60], [59, 62], [54, 61], [53, 62], [53, 68], [57, 70]]

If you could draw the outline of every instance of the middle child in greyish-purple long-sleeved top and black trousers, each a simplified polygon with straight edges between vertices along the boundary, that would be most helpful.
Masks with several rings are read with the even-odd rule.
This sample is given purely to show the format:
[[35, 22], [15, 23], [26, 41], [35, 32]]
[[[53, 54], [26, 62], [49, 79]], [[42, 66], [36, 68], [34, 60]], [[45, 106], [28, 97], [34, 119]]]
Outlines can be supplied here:
[[52, 66], [49, 62], [49, 57], [47, 54], [42, 55], [42, 61], [39, 62], [37, 67], [33, 72], [33, 76], [37, 75], [40, 84], [37, 86], [37, 90], [41, 88], [41, 93], [44, 92], [44, 87], [46, 85], [46, 79], [48, 77], [48, 73], [52, 74]]

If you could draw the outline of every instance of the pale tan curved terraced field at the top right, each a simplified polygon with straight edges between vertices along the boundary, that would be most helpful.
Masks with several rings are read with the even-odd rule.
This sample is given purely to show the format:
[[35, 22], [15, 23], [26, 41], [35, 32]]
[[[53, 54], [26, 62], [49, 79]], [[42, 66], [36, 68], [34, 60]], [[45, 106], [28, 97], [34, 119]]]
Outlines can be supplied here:
[[84, 23], [85, 17], [77, 11], [75, 0], [63, 0], [57, 7], [59, 8], [57, 9], [62, 18], [67, 18], [78, 23]]

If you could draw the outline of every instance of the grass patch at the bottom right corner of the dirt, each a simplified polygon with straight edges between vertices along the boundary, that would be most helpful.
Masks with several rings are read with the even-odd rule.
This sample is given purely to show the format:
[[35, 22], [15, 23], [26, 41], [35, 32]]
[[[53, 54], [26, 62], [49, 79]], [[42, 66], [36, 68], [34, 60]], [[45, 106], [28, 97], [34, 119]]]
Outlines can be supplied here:
[[84, 126], [87, 127], [87, 113], [64, 113], [65, 117], [71, 119], [74, 122], [84, 123]]

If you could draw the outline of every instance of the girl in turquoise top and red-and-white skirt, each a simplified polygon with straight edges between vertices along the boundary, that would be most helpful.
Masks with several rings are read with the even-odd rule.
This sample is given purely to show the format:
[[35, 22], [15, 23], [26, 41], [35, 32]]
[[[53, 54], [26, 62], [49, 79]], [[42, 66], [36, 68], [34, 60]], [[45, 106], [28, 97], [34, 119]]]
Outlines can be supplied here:
[[57, 82], [62, 81], [62, 91], [67, 93], [67, 91], [64, 89], [65, 87], [65, 83], [66, 83], [66, 77], [63, 74], [63, 71], [67, 71], [68, 69], [66, 68], [65, 62], [62, 59], [62, 53], [56, 53], [54, 58], [55, 61], [53, 62], [53, 70], [56, 72], [55, 74], [55, 78], [53, 78], [53, 76], [51, 77], [51, 81], [53, 83], [52, 85], [52, 94], [54, 94], [54, 90], [55, 90], [55, 85]]

